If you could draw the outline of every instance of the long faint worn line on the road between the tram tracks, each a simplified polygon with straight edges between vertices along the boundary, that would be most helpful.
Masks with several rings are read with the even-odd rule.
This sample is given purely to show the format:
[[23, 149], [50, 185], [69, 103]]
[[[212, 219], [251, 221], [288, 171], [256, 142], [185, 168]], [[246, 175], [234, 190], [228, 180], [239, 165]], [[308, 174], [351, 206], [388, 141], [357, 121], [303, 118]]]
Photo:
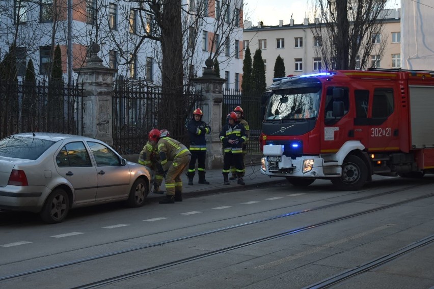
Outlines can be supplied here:
[[388, 228], [390, 226], [394, 226], [394, 225], [395, 224], [387, 224], [387, 225], [384, 225], [384, 226], [381, 226], [381, 227], [376, 227], [376, 228], [373, 228], [371, 230], [367, 230], [366, 232], [362, 232], [362, 233], [359, 233], [359, 234], [351, 236], [351, 237], [340, 239], [340, 240], [337, 240], [337, 241], [334, 241], [334, 242], [331, 242], [331, 243], [328, 243], [328, 244], [325, 244], [325, 245], [321, 245], [321, 246], [312, 248], [312, 249], [304, 251], [304, 252], [300, 252], [300, 253], [292, 255], [292, 256], [288, 256], [288, 257], [279, 259], [279, 260], [274, 261], [274, 262], [270, 262], [270, 263], [267, 263], [267, 264], [255, 267], [255, 269], [268, 269], [268, 268], [272, 268], [274, 266], [281, 265], [281, 264], [283, 264], [285, 262], [292, 261], [292, 260], [298, 259], [300, 257], [306, 256], [306, 255], [309, 255], [309, 254], [312, 254], [312, 253], [316, 253], [316, 252], [319, 252], [319, 251], [322, 251], [322, 250], [334, 247], [336, 245], [339, 245], [339, 244], [342, 244], [342, 243], [345, 243], [345, 242], [349, 242], [351, 240], [359, 239], [361, 237], [364, 237], [366, 235], [378, 232], [380, 230], [384, 230], [384, 229], [386, 229], [386, 228]]

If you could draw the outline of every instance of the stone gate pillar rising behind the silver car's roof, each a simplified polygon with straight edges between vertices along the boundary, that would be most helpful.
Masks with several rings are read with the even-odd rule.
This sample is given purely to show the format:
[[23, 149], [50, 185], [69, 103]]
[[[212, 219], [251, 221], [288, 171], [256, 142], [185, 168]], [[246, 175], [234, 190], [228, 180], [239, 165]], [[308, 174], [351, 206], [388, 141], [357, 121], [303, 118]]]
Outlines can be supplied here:
[[78, 83], [83, 83], [83, 136], [93, 137], [113, 145], [112, 136], [112, 99], [113, 74], [117, 69], [102, 65], [98, 57], [99, 45], [93, 43], [90, 47], [90, 57], [79, 69], [73, 69], [78, 74]]

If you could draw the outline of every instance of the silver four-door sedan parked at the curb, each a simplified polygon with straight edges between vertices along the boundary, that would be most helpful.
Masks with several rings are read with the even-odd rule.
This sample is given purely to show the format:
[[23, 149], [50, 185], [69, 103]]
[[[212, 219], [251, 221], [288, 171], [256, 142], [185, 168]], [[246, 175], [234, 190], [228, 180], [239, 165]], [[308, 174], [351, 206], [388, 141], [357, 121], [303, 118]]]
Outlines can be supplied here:
[[77, 207], [122, 200], [140, 207], [152, 182], [147, 167], [97, 139], [20, 133], [0, 140], [0, 209], [39, 213], [47, 223]]

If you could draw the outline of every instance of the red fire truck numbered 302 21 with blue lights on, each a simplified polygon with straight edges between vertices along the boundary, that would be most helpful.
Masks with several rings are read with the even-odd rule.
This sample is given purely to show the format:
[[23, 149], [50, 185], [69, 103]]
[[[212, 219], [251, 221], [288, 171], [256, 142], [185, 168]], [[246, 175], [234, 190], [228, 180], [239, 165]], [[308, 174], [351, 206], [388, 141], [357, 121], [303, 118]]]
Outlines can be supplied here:
[[358, 190], [372, 175], [434, 174], [434, 72], [331, 71], [273, 79], [262, 95], [261, 172]]

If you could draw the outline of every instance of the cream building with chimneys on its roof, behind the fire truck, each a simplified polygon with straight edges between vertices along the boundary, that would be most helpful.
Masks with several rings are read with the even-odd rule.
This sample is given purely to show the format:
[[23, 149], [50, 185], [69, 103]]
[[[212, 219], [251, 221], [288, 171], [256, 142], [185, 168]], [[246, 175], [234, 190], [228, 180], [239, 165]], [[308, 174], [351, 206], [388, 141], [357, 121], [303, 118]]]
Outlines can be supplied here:
[[[384, 30], [381, 35], [373, 39], [375, 44], [386, 44], [382, 59], [378, 55], [371, 55], [371, 64], [381, 68], [401, 67], [400, 52], [400, 10], [388, 11], [385, 19]], [[319, 23], [310, 23], [308, 18], [302, 24], [294, 24], [290, 19], [284, 24], [279, 21], [276, 26], [263, 26], [258, 23], [252, 26], [246, 21], [243, 31], [243, 47], [250, 47], [252, 55], [256, 49], [261, 49], [262, 59], [265, 66], [265, 79], [271, 84], [274, 76], [276, 58], [280, 55], [285, 64], [287, 75], [304, 75], [321, 71], [322, 60], [319, 50], [321, 43], [318, 37], [314, 36], [315, 27]]]

